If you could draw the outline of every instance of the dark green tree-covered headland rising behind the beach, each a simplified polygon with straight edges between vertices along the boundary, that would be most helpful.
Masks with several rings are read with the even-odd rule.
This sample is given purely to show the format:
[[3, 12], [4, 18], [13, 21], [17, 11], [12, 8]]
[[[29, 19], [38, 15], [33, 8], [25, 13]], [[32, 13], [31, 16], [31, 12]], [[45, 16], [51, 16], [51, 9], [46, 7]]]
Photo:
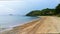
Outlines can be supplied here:
[[26, 16], [55, 16], [60, 15], [60, 4], [56, 6], [55, 9], [43, 9], [43, 10], [33, 10], [28, 13]]

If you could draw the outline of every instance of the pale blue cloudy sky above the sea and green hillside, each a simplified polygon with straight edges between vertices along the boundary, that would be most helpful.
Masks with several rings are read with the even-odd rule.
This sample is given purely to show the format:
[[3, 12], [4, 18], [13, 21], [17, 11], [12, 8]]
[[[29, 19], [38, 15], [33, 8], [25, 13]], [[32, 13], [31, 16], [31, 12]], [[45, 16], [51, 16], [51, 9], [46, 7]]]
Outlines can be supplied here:
[[55, 8], [60, 0], [0, 0], [0, 15], [26, 15], [32, 10]]

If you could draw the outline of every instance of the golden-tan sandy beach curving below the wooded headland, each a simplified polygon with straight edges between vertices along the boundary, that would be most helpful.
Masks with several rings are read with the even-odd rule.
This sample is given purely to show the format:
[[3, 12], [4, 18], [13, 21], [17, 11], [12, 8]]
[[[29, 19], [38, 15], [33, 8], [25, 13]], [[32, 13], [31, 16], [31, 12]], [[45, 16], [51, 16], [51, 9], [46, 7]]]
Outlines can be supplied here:
[[31, 21], [1, 34], [47, 34], [60, 33], [60, 17], [41, 16], [41, 19]]

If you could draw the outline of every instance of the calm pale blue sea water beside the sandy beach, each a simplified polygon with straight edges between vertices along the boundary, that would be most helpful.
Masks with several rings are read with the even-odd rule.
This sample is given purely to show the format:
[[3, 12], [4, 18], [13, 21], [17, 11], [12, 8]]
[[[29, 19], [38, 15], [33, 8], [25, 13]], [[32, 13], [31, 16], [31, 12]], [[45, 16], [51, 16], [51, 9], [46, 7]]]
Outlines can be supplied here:
[[37, 18], [38, 17], [28, 16], [0, 16], [0, 31], [16, 25], [24, 24]]

